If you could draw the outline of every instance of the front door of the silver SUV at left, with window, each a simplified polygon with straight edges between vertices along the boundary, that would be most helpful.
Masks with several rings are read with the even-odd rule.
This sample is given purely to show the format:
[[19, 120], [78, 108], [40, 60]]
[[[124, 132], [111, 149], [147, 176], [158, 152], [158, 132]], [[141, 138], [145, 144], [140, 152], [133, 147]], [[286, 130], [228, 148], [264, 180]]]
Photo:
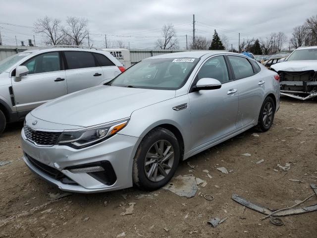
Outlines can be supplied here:
[[60, 52], [37, 55], [21, 65], [29, 69], [20, 82], [11, 77], [14, 99], [19, 116], [54, 98], [67, 94], [65, 70]]

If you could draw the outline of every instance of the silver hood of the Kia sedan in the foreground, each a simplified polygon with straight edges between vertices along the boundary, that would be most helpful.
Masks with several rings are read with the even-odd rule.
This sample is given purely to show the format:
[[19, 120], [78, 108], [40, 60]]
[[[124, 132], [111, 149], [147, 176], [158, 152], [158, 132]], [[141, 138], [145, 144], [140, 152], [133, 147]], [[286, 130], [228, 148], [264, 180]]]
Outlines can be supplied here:
[[175, 97], [173, 90], [97, 86], [78, 91], [34, 109], [42, 120], [77, 126], [128, 118], [132, 112]]

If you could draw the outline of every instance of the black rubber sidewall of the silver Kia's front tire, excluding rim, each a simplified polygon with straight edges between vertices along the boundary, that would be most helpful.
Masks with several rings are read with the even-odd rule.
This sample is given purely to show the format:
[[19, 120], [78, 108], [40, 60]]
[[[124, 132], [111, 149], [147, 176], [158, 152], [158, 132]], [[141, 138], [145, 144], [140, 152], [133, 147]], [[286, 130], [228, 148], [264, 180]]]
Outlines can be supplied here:
[[[144, 171], [145, 157], [152, 145], [159, 140], [167, 140], [174, 149], [174, 163], [169, 174], [159, 182], [153, 182], [147, 178]], [[133, 163], [133, 180], [134, 184], [144, 190], [156, 190], [164, 186], [175, 174], [180, 159], [180, 149], [177, 138], [167, 129], [155, 128], [149, 132], [139, 145], [138, 151]]]

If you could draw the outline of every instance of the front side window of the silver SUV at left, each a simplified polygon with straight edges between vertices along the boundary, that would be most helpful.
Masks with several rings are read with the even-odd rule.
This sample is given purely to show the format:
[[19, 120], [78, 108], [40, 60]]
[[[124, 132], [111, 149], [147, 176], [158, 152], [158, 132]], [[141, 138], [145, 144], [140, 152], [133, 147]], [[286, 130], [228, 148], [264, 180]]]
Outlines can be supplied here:
[[29, 69], [29, 74], [59, 71], [60, 60], [58, 52], [38, 55], [22, 65]]

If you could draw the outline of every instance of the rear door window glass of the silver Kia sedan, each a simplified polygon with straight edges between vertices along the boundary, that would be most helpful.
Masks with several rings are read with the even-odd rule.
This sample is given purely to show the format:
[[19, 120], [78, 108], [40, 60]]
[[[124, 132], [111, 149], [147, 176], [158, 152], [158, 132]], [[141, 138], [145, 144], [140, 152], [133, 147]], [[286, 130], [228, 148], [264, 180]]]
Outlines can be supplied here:
[[254, 74], [249, 60], [239, 56], [228, 56], [236, 79], [250, 77]]

